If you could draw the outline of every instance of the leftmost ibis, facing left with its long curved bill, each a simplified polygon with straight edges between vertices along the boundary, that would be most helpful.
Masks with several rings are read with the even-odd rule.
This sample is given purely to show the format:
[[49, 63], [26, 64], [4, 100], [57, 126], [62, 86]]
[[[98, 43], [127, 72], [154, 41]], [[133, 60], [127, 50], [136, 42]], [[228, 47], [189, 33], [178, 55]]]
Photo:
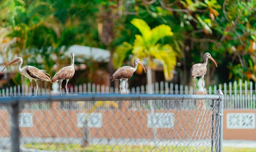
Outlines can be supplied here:
[[[15, 62], [18, 62], [17, 71], [30, 80], [31, 89], [29, 91], [29, 95], [30, 95], [30, 93], [32, 92], [32, 89], [33, 89], [33, 84], [32, 84], [33, 79], [35, 80], [35, 84], [36, 84], [35, 96], [37, 96], [37, 91], [38, 91], [38, 84], [36, 82], [37, 80], [51, 82], [51, 76], [48, 73], [46, 73], [46, 70], [39, 70], [38, 68], [35, 68], [35, 67], [32, 67], [32, 66], [25, 66], [25, 67], [21, 68], [21, 65], [22, 65], [22, 62], [23, 62], [23, 59], [21, 57], [17, 57], [15, 60], [10, 62], [8, 65], [11, 65], [12, 63], [15, 63]], [[6, 65], [3, 68], [3, 70], [8, 65]], [[3, 70], [2, 70], [2, 72], [3, 72]]]

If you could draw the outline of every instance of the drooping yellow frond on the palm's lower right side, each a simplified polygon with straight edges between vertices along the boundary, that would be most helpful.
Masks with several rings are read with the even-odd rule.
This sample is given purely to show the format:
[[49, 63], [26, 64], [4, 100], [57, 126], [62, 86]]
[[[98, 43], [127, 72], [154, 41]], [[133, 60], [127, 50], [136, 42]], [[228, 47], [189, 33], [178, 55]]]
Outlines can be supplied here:
[[172, 80], [173, 70], [175, 69], [176, 65], [176, 53], [175, 51], [173, 51], [172, 46], [170, 46], [169, 44], [160, 46], [156, 50], [154, 57], [160, 60], [163, 64], [163, 73], [165, 79], [167, 81]]

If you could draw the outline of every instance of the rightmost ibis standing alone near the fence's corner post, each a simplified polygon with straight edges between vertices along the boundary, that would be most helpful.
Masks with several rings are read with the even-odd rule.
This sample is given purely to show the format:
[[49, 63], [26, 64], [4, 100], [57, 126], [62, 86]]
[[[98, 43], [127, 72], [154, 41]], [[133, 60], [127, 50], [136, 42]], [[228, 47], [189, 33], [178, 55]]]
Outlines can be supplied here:
[[[207, 71], [208, 58], [215, 63], [216, 67], [218, 67], [217, 63], [214, 61], [210, 53], [204, 54], [204, 63], [198, 63], [192, 66], [190, 73], [191, 73], [192, 79], [194, 79], [194, 94], [195, 94], [195, 77], [198, 77], [198, 76], [202, 77], [202, 86], [204, 88], [204, 75], [206, 74], [206, 71]], [[206, 94], [205, 90], [204, 90], [204, 94]]]

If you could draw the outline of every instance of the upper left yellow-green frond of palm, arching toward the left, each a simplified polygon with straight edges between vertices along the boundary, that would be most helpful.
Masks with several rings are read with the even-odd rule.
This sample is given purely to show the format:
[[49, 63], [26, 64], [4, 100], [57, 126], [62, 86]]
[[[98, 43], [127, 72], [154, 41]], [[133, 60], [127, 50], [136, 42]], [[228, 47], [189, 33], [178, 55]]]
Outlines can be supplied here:
[[131, 21], [131, 23], [139, 29], [143, 39], [145, 39], [146, 42], [151, 38], [151, 28], [144, 20], [135, 18]]

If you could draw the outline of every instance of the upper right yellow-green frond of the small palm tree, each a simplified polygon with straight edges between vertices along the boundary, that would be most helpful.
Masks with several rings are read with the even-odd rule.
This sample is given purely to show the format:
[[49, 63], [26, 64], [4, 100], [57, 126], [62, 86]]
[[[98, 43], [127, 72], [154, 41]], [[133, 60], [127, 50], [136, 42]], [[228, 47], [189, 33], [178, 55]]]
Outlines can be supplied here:
[[151, 31], [151, 44], [155, 45], [159, 39], [162, 39], [164, 37], [173, 36], [171, 27], [168, 25], [159, 25], [152, 29]]

